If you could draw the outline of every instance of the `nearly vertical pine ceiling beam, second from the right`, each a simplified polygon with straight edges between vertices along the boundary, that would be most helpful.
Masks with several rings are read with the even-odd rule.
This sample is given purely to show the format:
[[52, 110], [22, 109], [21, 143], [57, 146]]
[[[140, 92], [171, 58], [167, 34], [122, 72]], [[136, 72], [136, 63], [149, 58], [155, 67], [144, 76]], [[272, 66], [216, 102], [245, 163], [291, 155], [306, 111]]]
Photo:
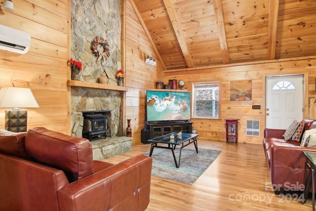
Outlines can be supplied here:
[[214, 7], [214, 14], [215, 20], [218, 30], [218, 37], [222, 51], [222, 57], [224, 64], [229, 64], [229, 52], [227, 47], [227, 40], [226, 40], [226, 32], [225, 32], [225, 23], [224, 23], [224, 11], [222, 0], [213, 0], [213, 7]]

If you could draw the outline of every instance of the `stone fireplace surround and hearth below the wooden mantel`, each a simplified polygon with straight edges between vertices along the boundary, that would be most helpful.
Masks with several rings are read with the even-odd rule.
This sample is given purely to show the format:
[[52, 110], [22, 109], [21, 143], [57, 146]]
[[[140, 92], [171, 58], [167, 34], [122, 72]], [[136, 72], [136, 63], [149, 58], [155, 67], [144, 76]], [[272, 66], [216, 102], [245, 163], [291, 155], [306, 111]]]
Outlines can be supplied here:
[[71, 129], [72, 136], [82, 137], [83, 111], [109, 111], [107, 118], [107, 137], [91, 140], [93, 159], [102, 160], [132, 149], [131, 137], [118, 136], [120, 127], [121, 92], [115, 90], [72, 87], [71, 89]]

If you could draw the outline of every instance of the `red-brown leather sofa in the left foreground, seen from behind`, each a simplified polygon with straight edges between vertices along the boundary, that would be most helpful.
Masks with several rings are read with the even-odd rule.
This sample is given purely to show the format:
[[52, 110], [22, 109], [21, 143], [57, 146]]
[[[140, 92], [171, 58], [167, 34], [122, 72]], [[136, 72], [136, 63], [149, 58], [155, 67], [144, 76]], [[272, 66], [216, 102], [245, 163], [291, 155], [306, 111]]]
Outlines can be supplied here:
[[93, 161], [90, 141], [43, 127], [0, 129], [1, 211], [144, 211], [152, 158]]

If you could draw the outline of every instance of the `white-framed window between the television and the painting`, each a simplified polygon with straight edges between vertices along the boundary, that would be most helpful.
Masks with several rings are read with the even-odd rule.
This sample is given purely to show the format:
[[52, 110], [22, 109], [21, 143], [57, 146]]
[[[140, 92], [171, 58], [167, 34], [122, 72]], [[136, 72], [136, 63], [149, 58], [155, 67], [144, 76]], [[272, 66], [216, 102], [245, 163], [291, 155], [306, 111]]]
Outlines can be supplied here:
[[218, 119], [219, 83], [194, 83], [192, 93], [192, 117]]

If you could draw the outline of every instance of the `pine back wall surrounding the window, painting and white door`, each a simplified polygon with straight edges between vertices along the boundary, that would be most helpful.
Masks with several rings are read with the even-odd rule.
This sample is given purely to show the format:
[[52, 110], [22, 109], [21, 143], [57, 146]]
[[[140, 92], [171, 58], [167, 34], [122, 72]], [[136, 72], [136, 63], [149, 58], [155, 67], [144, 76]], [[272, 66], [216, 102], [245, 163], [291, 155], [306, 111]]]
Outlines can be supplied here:
[[[183, 69], [165, 71], [165, 79], [176, 77], [185, 82], [189, 91], [192, 83], [220, 82], [220, 119], [192, 119], [199, 138], [225, 141], [224, 119], [238, 121], [238, 142], [261, 144], [265, 128], [265, 80], [267, 76], [303, 74], [305, 76], [304, 118], [310, 118], [310, 99], [316, 95], [316, 58], [296, 58], [295, 60], [273, 60], [271, 62], [244, 63], [238, 66], [221, 65], [206, 69]], [[251, 101], [230, 101], [230, 82], [252, 81]], [[260, 105], [253, 110], [252, 105]], [[246, 121], [260, 120], [260, 137], [246, 136]]]

